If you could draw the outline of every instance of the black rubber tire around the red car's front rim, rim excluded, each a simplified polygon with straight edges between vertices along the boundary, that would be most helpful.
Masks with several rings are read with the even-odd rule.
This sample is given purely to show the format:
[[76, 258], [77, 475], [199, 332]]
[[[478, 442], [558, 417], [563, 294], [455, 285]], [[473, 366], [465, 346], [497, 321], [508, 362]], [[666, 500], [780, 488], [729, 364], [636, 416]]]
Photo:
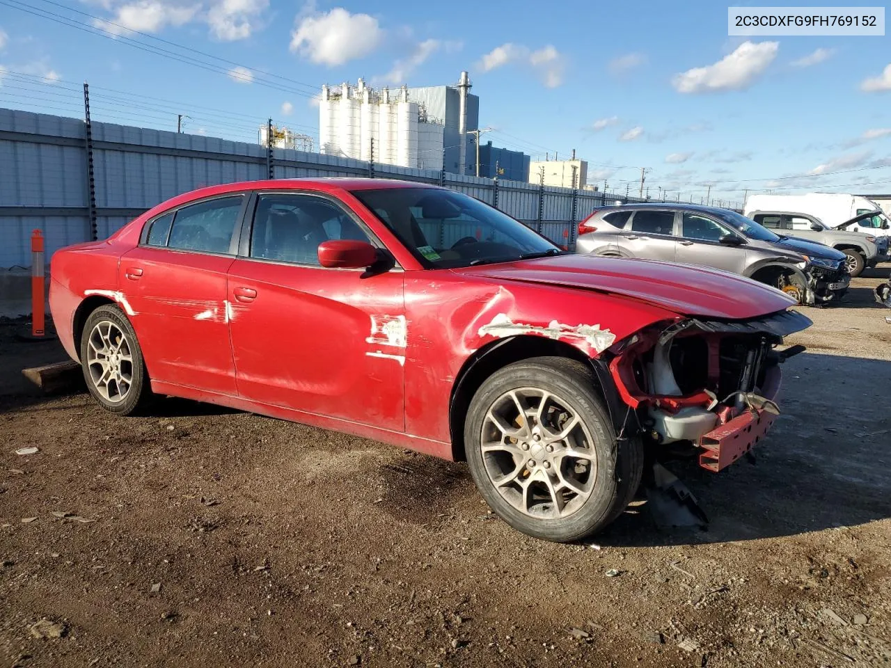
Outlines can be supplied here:
[[[470, 474], [489, 507], [523, 534], [552, 542], [579, 541], [609, 525], [634, 499], [642, 477], [642, 443], [637, 438], [617, 443], [609, 413], [594, 383], [593, 372], [582, 363], [563, 357], [536, 357], [495, 371], [470, 402], [464, 422]], [[487, 472], [481, 450], [486, 415], [505, 393], [520, 388], [556, 395], [590, 434], [597, 464], [593, 485], [587, 499], [566, 517], [532, 517], [515, 508], [499, 493]]]

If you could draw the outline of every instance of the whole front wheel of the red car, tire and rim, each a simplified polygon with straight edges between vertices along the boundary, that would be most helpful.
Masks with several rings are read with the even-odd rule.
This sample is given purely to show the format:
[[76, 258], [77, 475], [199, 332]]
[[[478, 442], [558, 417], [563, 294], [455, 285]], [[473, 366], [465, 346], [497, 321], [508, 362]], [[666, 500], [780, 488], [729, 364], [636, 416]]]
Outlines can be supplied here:
[[470, 403], [464, 444], [489, 507], [546, 541], [600, 531], [641, 482], [641, 442], [617, 442], [592, 371], [562, 357], [513, 363], [486, 379]]

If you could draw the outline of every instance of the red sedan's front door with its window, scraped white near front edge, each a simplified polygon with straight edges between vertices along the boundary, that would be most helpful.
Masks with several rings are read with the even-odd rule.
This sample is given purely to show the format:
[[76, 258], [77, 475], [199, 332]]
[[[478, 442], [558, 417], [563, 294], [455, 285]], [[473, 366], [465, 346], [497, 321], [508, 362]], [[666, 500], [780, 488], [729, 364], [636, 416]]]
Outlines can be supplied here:
[[319, 264], [324, 240], [368, 240], [361, 219], [313, 192], [263, 192], [229, 268], [239, 395], [405, 430], [404, 273]]

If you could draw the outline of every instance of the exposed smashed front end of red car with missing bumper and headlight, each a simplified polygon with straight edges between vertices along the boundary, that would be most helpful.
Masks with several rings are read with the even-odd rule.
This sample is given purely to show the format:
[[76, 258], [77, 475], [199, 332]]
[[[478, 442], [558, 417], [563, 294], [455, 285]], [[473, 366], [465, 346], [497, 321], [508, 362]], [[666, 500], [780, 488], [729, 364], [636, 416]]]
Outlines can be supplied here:
[[[742, 321], [687, 317], [654, 324], [605, 351], [601, 365], [621, 402], [614, 411], [625, 411], [620, 433], [643, 439], [655, 471], [649, 484], [665, 477], [660, 462], [668, 459], [695, 456], [717, 473], [751, 452], [780, 413], [780, 364], [804, 350], [777, 346], [811, 324], [796, 311]], [[691, 505], [689, 491], [676, 479], [673, 485]], [[699, 509], [695, 517], [694, 524], [705, 518]]]

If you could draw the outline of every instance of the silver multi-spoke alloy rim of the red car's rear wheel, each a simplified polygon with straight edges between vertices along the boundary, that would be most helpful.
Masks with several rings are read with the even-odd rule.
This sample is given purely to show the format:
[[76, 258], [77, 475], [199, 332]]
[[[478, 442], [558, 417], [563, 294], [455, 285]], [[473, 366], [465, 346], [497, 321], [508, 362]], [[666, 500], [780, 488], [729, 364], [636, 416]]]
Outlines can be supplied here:
[[127, 398], [133, 385], [133, 354], [127, 335], [108, 320], [97, 322], [87, 341], [86, 365], [96, 391], [110, 403]]

